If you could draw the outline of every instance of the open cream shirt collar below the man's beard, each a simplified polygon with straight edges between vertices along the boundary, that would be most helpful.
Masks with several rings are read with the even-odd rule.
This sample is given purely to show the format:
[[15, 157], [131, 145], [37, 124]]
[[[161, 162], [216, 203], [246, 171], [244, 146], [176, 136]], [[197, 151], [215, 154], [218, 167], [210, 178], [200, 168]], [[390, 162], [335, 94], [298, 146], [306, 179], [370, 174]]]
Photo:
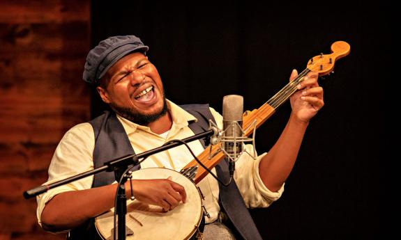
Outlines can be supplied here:
[[[172, 129], [181, 129], [183, 127], [188, 126], [188, 122], [197, 121], [192, 114], [188, 113], [184, 109], [181, 109], [180, 106], [174, 104], [173, 102], [167, 101], [167, 109], [172, 115], [173, 125]], [[137, 130], [147, 131], [151, 134], [154, 134], [149, 127], [138, 125], [135, 122], [131, 122], [130, 120], [121, 117], [121, 115], [117, 114], [117, 118], [120, 120], [121, 124], [123, 125], [124, 130], [126, 130], [127, 135], [133, 134]]]

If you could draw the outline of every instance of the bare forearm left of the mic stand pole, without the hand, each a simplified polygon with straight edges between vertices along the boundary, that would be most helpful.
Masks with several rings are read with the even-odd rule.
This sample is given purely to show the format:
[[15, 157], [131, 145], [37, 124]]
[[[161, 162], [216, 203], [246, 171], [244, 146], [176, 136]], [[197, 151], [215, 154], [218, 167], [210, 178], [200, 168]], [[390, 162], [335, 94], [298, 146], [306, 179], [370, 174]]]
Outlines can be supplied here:
[[114, 207], [116, 184], [55, 195], [47, 202], [40, 220], [49, 231], [69, 230], [80, 226]]

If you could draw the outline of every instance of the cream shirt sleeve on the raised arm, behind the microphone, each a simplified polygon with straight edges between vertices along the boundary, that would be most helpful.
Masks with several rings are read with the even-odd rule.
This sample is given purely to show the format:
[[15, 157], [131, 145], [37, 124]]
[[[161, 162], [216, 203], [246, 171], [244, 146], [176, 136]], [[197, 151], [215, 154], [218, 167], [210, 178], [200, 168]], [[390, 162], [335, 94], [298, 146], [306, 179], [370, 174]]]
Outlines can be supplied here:
[[[218, 127], [222, 129], [222, 115], [213, 108], [211, 108], [211, 113]], [[241, 157], [236, 161], [234, 172], [236, 185], [239, 188], [246, 207], [268, 207], [271, 203], [280, 198], [284, 191], [284, 184], [275, 192], [267, 189], [259, 175], [259, 163], [266, 155], [266, 152], [259, 156], [257, 156], [255, 152], [255, 156], [257, 157], [254, 159], [251, 156], [254, 154], [253, 146], [246, 145], [245, 150], [246, 152], [243, 152]]]

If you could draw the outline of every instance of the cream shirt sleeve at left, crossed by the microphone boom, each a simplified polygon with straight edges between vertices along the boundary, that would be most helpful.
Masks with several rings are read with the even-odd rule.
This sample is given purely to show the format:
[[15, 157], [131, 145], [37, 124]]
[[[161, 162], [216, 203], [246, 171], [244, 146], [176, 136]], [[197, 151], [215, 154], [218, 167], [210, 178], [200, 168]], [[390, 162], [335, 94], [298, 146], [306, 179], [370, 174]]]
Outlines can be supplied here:
[[[61, 179], [92, 170], [94, 145], [95, 136], [93, 128], [88, 122], [76, 125], [68, 130], [56, 147], [49, 167], [49, 179], [44, 184], [51, 184]], [[38, 195], [36, 197], [38, 204], [36, 217], [38, 218], [39, 225], [41, 225], [40, 216], [46, 203], [52, 200], [55, 195], [66, 191], [90, 189], [92, 182], [93, 175], [58, 186]]]

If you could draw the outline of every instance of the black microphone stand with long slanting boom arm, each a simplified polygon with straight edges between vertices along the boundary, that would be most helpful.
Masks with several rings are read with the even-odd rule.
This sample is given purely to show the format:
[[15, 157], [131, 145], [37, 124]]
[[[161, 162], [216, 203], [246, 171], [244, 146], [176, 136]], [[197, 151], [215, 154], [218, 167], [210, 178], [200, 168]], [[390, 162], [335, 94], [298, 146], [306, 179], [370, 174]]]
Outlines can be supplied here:
[[[208, 131], [204, 131], [201, 134], [195, 134], [194, 136], [190, 136], [188, 138], [183, 139], [182, 141], [185, 143], [189, 143], [195, 140], [198, 140], [200, 138], [204, 137], [209, 137], [216, 135], [216, 130], [215, 129], [210, 129]], [[64, 184], [68, 184], [70, 182], [74, 182], [78, 179], [82, 179], [84, 177], [88, 177], [90, 175], [95, 175], [97, 173], [101, 173], [103, 171], [106, 172], [112, 172], [114, 171], [114, 174], [116, 175], [117, 178], [117, 173], [118, 170], [120, 169], [126, 169], [130, 165], [137, 166], [138, 164], [142, 163], [147, 157], [156, 154], [158, 152], [162, 152], [165, 150], [169, 150], [170, 148], [177, 147], [179, 145], [182, 145], [183, 143], [181, 142], [174, 142], [174, 143], [169, 143], [167, 145], [162, 145], [160, 147], [156, 147], [152, 150], [142, 152], [140, 154], [130, 154], [124, 157], [119, 157], [117, 159], [114, 159], [112, 161], [108, 161], [105, 163], [104, 166], [101, 166], [100, 168], [95, 168], [93, 170], [86, 171], [84, 173], [80, 173], [78, 175], [75, 175], [73, 177], [68, 177], [66, 179], [62, 179], [60, 181], [54, 182], [52, 184], [48, 185], [42, 185], [42, 186], [37, 186], [36, 188], [24, 191], [24, 198], [29, 199], [33, 198], [36, 195], [39, 195], [41, 193], [45, 193], [49, 191], [50, 189], [54, 189], [57, 186], [61, 186]], [[142, 161], [138, 161], [138, 159], [142, 159]], [[121, 184], [119, 184], [119, 189], [118, 189], [118, 196], [117, 196], [117, 203], [116, 203], [116, 214], [119, 215], [119, 223], [118, 223], [118, 238], [119, 240], [125, 240], [126, 239], [126, 212], [127, 212], [127, 203], [126, 203], [126, 186], [125, 182], [127, 179], [130, 178], [130, 175], [124, 175], [123, 180], [121, 181]], [[119, 181], [119, 179], [117, 179]]]

